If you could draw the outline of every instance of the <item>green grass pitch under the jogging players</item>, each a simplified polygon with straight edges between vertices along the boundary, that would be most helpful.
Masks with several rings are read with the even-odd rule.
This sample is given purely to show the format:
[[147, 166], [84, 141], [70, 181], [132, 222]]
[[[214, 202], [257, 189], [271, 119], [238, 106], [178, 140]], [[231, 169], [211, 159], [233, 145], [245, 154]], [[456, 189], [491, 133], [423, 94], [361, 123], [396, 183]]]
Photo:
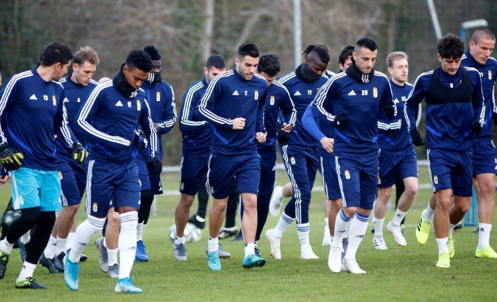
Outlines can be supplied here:
[[[420, 183], [428, 183], [426, 168], [420, 168], [419, 175]], [[284, 184], [287, 179], [286, 174], [278, 173], [278, 184]], [[177, 176], [163, 174], [163, 185], [165, 190], [176, 189]], [[321, 185], [320, 176], [316, 185]], [[159, 196], [156, 199], [158, 216], [150, 219], [144, 234], [151, 260], [135, 263], [132, 271], [135, 284], [144, 290], [143, 294], [114, 293], [116, 280], [99, 270], [97, 249], [93, 244], [95, 236], [84, 250], [89, 258], [80, 266], [77, 292], [66, 288], [61, 274], [49, 275], [40, 265], [34, 277], [49, 289], [16, 290], [14, 281], [21, 260], [18, 250], [14, 249], [7, 273], [0, 281], [1, 301], [497, 301], [497, 259], [474, 257], [478, 235], [471, 232], [473, 227], [455, 233], [456, 255], [449, 269], [434, 266], [437, 248], [433, 231], [424, 246], [416, 242], [414, 228], [430, 193], [430, 190], [420, 190], [407, 216], [406, 247], [396, 245], [385, 230], [389, 249], [376, 251], [368, 229], [357, 253], [359, 264], [367, 271], [365, 275], [333, 274], [328, 269], [329, 248], [321, 245], [323, 192], [313, 194], [310, 211], [311, 245], [321, 259], [300, 259], [297, 231], [292, 226], [282, 239], [283, 259], [272, 259], [269, 244], [262, 237], [258, 245], [267, 260], [266, 265], [248, 271], [242, 269], [242, 243], [221, 240], [233, 256], [222, 260], [220, 272], [207, 268], [206, 229], [202, 231], [199, 243], [187, 244], [188, 261], [174, 260], [167, 233], [174, 222], [173, 213], [179, 197]], [[0, 187], [0, 209], [4, 209], [9, 197], [10, 183]], [[196, 203], [193, 208], [196, 210]], [[80, 210], [79, 222], [85, 217], [83, 209]], [[386, 222], [391, 217], [389, 211]], [[266, 228], [274, 227], [276, 223], [277, 218], [269, 217]], [[491, 245], [497, 247], [495, 234], [491, 237]]]

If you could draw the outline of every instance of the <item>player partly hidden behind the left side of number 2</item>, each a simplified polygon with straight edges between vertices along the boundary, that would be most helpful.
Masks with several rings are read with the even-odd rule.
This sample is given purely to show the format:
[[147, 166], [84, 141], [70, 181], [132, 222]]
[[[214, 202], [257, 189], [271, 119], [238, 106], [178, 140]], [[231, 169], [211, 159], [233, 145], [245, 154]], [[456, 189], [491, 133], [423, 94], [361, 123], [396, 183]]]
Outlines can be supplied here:
[[[207, 173], [207, 162], [209, 161], [211, 142], [214, 136], [212, 125], [201, 120], [198, 113], [197, 115], [195, 114], [195, 111], [200, 99], [207, 90], [209, 82], [216, 75], [222, 74], [225, 71], [226, 61], [224, 58], [220, 55], [210, 56], [204, 67], [205, 77], [192, 83], [183, 95], [183, 103], [179, 114], [179, 130], [183, 135], [181, 171], [179, 174], [179, 192], [181, 193], [181, 197], [174, 214], [176, 238], [172, 245], [176, 260], [186, 260], [184, 228], [186, 227], [190, 208], [201, 184], [201, 180]], [[206, 199], [208, 199], [208, 196]], [[220, 257], [231, 256], [222, 250], [221, 247], [219, 249]]]

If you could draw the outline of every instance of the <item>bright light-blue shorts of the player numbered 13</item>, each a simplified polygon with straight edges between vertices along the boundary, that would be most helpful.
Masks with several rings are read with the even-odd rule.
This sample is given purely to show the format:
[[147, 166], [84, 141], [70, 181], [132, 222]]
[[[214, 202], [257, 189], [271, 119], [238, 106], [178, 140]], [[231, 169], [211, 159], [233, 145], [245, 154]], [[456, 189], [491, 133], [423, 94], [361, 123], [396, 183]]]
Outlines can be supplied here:
[[61, 181], [57, 171], [20, 167], [10, 172], [14, 210], [40, 207], [42, 212], [61, 210]]

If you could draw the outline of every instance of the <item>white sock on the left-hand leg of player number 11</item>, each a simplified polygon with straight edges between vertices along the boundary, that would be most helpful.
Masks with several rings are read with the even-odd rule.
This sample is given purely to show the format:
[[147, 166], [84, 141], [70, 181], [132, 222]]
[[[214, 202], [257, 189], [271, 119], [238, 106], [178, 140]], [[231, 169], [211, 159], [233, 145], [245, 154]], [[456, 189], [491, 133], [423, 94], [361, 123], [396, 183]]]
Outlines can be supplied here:
[[69, 260], [71, 262], [80, 262], [80, 256], [86, 244], [90, 241], [91, 236], [102, 230], [104, 223], [105, 218], [96, 218], [88, 215], [86, 220], [76, 228], [74, 244], [69, 253]]

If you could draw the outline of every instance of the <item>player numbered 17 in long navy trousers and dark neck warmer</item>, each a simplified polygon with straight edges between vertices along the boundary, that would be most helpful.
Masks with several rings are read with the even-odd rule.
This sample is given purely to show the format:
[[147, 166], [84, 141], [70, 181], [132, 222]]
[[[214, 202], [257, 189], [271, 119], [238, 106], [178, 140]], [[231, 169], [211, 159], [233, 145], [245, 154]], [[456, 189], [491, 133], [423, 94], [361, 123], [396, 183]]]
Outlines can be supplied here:
[[[297, 69], [279, 78], [290, 92], [297, 120], [302, 120], [306, 108], [313, 101], [320, 87], [326, 83], [328, 77], [323, 73], [330, 62], [330, 54], [327, 48], [320, 45], [309, 45], [304, 51], [305, 62]], [[283, 120], [283, 122], [286, 122]], [[285, 230], [295, 220], [297, 233], [300, 240], [300, 258], [318, 259], [309, 243], [309, 203], [311, 202], [311, 190], [319, 167], [319, 146], [315, 139], [297, 123], [294, 131], [280, 135], [279, 145], [283, 162], [293, 187], [293, 197], [290, 199], [281, 214], [275, 228], [268, 229], [265, 233], [271, 247], [271, 255], [275, 259], [281, 259], [280, 241]], [[275, 188], [276, 191], [276, 188]], [[278, 190], [281, 192], [281, 189]], [[273, 196], [278, 192], [273, 192]], [[273, 202], [276, 199], [271, 199]], [[278, 198], [279, 201], [281, 199]], [[272, 205], [273, 210], [279, 213], [281, 203]], [[270, 205], [271, 209], [271, 205]]]

